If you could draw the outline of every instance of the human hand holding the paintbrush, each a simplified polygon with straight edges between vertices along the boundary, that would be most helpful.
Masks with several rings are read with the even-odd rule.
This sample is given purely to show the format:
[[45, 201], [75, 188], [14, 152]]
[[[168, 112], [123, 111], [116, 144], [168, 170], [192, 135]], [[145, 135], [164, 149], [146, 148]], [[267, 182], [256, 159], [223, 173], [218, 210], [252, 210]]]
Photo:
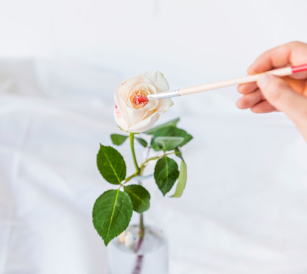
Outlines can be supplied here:
[[[307, 63], [307, 44], [291, 42], [261, 54], [249, 67], [248, 74], [297, 66]], [[284, 112], [307, 141], [307, 72], [278, 77], [264, 74], [255, 83], [238, 86], [243, 96], [238, 108], [250, 108], [255, 113]]]

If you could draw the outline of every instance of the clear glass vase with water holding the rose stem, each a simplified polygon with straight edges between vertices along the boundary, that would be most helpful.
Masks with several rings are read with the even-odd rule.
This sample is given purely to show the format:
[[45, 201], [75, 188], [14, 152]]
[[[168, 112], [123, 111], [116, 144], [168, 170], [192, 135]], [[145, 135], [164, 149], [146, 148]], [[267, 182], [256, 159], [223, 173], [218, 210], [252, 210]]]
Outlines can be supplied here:
[[[168, 274], [167, 240], [152, 192], [151, 196], [150, 209], [134, 212], [128, 228], [109, 243], [108, 274]], [[144, 229], [140, 230], [140, 222]]]

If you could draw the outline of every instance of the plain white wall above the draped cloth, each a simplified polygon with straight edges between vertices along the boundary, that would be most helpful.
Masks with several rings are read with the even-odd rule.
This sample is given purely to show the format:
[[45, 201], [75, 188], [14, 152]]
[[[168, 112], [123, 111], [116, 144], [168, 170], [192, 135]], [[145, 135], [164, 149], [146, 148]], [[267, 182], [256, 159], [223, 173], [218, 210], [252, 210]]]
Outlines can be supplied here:
[[241, 76], [264, 50], [307, 41], [306, 8], [305, 0], [1, 0], [0, 56], [135, 52], [148, 59], [140, 72], [167, 73], [171, 61], [206, 82]]

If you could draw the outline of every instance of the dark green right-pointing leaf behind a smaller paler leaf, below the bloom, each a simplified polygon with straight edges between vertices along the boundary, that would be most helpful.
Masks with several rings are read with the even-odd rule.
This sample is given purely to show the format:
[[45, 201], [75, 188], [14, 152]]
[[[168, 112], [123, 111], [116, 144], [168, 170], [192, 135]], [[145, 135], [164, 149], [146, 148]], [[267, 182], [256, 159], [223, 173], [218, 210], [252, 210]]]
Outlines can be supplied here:
[[161, 148], [159, 148], [155, 144], [155, 138], [158, 137], [182, 137], [183, 141], [178, 145], [179, 147], [182, 147], [187, 142], [189, 142], [193, 137], [188, 134], [185, 130], [180, 129], [176, 126], [168, 126], [163, 127], [154, 132], [153, 139], [152, 139], [152, 147], [154, 150], [159, 151]]

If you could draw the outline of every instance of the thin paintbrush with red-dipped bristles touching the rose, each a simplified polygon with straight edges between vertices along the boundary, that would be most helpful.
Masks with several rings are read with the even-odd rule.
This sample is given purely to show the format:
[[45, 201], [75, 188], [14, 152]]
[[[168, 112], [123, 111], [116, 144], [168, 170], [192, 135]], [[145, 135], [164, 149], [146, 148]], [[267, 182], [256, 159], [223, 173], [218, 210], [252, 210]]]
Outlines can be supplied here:
[[[307, 71], [307, 64], [276, 69], [276, 70], [268, 71], [265, 73], [269, 73], [269, 74], [277, 75], [277, 76], [286, 76], [286, 75], [291, 75], [291, 74], [303, 72], [303, 71]], [[188, 88], [181, 88], [181, 89], [173, 90], [173, 91], [149, 94], [147, 96], [143, 96], [143, 95], [135, 95], [135, 96], [137, 96], [137, 100], [139, 103], [144, 103], [144, 102], [158, 100], [158, 99], [165, 99], [165, 98], [172, 98], [172, 97], [177, 97], [177, 96], [182, 96], [182, 95], [187, 95], [187, 94], [194, 94], [198, 92], [223, 88], [223, 87], [232, 86], [232, 85], [256, 82], [259, 76], [262, 74], [264, 73], [255, 74], [255, 75], [247, 75], [243, 77], [238, 77], [238, 78], [233, 78], [233, 79], [223, 80], [223, 81], [218, 81], [218, 82], [212, 82], [212, 83], [202, 84], [202, 85], [188, 87]]]

